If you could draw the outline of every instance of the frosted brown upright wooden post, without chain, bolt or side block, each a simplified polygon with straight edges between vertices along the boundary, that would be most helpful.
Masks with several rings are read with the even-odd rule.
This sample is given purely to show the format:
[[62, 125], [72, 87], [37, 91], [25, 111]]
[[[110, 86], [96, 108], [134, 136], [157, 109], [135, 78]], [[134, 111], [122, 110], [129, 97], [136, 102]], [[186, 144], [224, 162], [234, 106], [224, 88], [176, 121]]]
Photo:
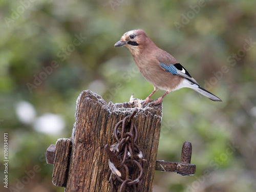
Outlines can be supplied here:
[[109, 159], [104, 145], [114, 143], [114, 126], [131, 115], [135, 108], [139, 109], [133, 119], [138, 129], [137, 144], [145, 160], [141, 191], [152, 191], [162, 105], [139, 108], [138, 100], [107, 104], [101, 96], [87, 90], [77, 100], [66, 192], [110, 191], [110, 184], [106, 180]]

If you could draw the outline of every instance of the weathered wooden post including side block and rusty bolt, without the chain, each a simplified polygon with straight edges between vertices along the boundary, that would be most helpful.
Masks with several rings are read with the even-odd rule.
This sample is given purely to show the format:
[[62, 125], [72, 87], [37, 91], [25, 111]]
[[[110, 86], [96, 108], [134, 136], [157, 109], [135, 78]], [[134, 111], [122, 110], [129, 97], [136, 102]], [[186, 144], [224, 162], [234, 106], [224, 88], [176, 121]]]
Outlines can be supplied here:
[[144, 160], [140, 191], [152, 191], [155, 169], [194, 175], [196, 166], [190, 164], [189, 147], [184, 147], [188, 151], [185, 155], [183, 153], [184, 162], [156, 161], [162, 105], [140, 108], [139, 100], [116, 104], [110, 102], [108, 105], [101, 96], [87, 90], [77, 99], [72, 138], [58, 139], [56, 145], [51, 145], [47, 150], [47, 162], [54, 163], [53, 184], [65, 187], [66, 192], [110, 191], [107, 180], [109, 158], [104, 146], [114, 143], [114, 126], [131, 115], [135, 108], [139, 109], [133, 118], [138, 129], [137, 144]]

